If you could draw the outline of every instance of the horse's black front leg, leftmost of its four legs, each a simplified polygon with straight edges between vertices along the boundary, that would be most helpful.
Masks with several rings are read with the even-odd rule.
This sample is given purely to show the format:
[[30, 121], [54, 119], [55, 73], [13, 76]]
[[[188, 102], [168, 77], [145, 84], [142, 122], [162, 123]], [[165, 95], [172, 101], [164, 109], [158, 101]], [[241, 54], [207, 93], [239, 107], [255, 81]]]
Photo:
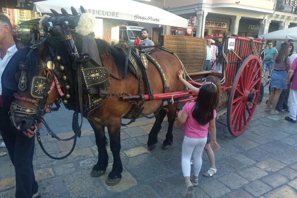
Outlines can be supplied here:
[[103, 175], [105, 173], [108, 165], [108, 154], [106, 150], [106, 145], [108, 144], [108, 142], [105, 137], [104, 126], [93, 121], [89, 121], [89, 123], [94, 129], [96, 145], [98, 148], [98, 161], [91, 171], [91, 176], [99, 177], [100, 175]]

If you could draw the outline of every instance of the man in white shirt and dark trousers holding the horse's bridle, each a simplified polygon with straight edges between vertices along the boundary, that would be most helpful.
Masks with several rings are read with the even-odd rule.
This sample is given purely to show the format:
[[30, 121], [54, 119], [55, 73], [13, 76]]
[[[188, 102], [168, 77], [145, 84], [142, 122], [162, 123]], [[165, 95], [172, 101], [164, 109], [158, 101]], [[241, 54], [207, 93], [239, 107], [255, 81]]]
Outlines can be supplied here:
[[[0, 13], [0, 129], [8, 154], [15, 167], [15, 197], [34, 198], [39, 195], [33, 171], [34, 137], [14, 130], [8, 115], [13, 90], [3, 86], [3, 72], [18, 49], [12, 38], [10, 20]], [[12, 59], [13, 60], [13, 59]], [[3, 105], [4, 104], [4, 105]], [[3, 171], [3, 170], [2, 170]], [[4, 170], [5, 171], [5, 170]]]

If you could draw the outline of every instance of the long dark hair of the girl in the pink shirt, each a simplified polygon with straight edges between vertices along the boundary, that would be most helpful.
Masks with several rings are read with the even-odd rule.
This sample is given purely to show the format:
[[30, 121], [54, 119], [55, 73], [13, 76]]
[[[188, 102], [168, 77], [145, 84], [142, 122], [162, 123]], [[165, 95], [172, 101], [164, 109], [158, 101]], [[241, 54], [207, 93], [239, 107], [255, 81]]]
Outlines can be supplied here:
[[218, 92], [216, 87], [209, 83], [202, 85], [193, 107], [192, 116], [202, 126], [214, 119], [214, 109], [217, 107]]

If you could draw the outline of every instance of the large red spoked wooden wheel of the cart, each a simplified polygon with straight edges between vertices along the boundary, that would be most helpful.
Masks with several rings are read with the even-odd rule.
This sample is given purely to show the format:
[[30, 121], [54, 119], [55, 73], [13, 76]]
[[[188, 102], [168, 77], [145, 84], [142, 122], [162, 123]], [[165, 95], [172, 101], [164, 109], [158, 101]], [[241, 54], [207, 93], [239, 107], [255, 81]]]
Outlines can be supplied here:
[[244, 59], [234, 78], [227, 109], [230, 134], [241, 135], [255, 112], [261, 86], [261, 62], [255, 55]]

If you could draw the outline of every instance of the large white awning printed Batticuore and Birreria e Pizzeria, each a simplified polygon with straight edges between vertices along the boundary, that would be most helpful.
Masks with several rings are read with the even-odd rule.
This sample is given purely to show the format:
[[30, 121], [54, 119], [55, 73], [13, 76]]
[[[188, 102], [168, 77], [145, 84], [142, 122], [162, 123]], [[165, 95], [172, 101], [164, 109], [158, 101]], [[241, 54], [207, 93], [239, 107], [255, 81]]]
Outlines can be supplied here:
[[80, 13], [80, 6], [83, 6], [87, 12], [99, 18], [129, 20], [182, 28], [188, 27], [187, 19], [158, 7], [132, 0], [48, 0], [35, 2], [33, 10], [36, 12], [51, 13], [50, 9], [52, 8], [61, 13], [61, 8], [63, 7], [71, 14], [71, 6], [75, 7], [77, 12]]

